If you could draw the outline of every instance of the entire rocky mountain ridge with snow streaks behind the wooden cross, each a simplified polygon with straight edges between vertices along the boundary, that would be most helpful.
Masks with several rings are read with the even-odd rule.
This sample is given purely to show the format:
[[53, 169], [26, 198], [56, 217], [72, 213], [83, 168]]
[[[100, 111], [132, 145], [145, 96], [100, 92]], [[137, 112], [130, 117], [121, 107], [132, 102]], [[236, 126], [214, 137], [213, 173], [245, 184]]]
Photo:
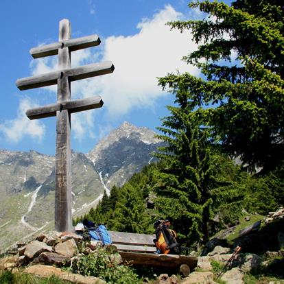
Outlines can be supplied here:
[[[88, 154], [72, 152], [73, 215], [82, 215], [152, 163], [161, 145], [147, 128], [123, 123]], [[54, 224], [55, 157], [0, 150], [0, 249]], [[9, 238], [7, 236], [10, 236]]]

